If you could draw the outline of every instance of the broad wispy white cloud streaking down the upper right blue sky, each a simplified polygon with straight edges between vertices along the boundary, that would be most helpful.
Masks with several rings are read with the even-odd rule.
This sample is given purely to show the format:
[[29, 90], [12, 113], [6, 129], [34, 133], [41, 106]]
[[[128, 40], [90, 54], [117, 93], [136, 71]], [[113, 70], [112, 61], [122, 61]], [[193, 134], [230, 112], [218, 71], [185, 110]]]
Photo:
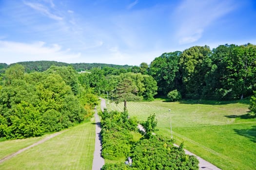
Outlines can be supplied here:
[[231, 0], [183, 1], [174, 13], [179, 44], [196, 42], [206, 27], [233, 11], [236, 8], [234, 4]]

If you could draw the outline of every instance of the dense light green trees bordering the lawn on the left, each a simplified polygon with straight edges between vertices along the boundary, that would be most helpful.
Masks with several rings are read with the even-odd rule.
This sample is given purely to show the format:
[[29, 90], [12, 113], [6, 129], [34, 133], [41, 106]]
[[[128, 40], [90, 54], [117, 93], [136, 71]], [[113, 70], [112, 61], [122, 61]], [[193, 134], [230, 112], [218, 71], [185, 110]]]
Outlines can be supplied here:
[[0, 137], [60, 131], [90, 117], [97, 102], [92, 90], [80, 85], [72, 67], [26, 73], [23, 66], [13, 65], [0, 82]]

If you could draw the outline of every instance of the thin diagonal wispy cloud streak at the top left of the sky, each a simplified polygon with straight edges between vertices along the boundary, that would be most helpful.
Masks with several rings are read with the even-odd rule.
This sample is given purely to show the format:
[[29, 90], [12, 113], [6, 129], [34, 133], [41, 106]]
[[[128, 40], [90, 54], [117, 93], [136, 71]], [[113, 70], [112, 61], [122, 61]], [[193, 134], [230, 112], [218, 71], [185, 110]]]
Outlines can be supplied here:
[[47, 7], [45, 7], [44, 5], [42, 5], [40, 3], [31, 3], [31, 2], [24, 1], [24, 4], [33, 8], [33, 9], [35, 9], [35, 10], [37, 10], [37, 11], [39, 11], [44, 16], [50, 17], [50, 18], [55, 19], [55, 20], [62, 20], [63, 19], [62, 17], [60, 17], [58, 15], [55, 15], [52, 12], [50, 12], [50, 10]]

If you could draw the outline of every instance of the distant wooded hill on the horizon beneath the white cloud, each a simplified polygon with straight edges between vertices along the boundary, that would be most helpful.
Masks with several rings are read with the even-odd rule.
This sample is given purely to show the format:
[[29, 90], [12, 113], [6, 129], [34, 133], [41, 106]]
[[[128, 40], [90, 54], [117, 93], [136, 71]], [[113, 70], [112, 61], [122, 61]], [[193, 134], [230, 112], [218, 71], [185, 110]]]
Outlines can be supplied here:
[[[33, 71], [45, 71], [51, 66], [71, 66], [77, 71], [84, 71], [84, 70], [90, 70], [92, 68], [105, 68], [105, 67], [111, 67], [111, 68], [132, 68], [133, 66], [128, 65], [114, 65], [114, 64], [102, 64], [102, 63], [75, 63], [75, 64], [68, 64], [63, 62], [57, 62], [57, 61], [26, 61], [26, 62], [18, 62], [10, 64], [9, 66], [20, 64], [25, 67], [26, 72], [33, 72]], [[7, 64], [0, 63], [0, 68], [6, 68], [8, 67]]]

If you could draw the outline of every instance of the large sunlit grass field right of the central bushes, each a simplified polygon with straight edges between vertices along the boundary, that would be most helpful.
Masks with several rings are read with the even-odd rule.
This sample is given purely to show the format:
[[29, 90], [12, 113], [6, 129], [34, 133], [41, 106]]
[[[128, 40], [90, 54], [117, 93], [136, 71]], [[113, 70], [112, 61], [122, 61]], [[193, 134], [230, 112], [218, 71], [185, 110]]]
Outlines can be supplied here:
[[[157, 134], [173, 136], [177, 144], [223, 170], [256, 169], [256, 119], [248, 118], [249, 101], [127, 102], [130, 116], [146, 120], [155, 113]], [[123, 103], [108, 109], [123, 110]], [[169, 109], [171, 111], [169, 112]]]

